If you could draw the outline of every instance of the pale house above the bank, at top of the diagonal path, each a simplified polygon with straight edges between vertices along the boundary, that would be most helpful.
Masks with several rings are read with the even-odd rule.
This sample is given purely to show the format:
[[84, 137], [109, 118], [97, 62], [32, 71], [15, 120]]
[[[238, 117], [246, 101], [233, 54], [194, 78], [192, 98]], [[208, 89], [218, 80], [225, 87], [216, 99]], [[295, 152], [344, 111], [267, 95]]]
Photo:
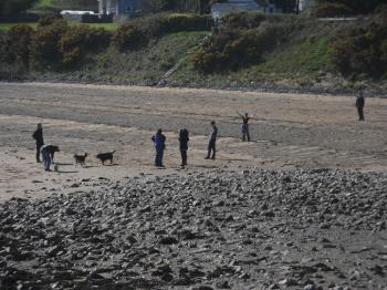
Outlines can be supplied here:
[[270, 0], [258, 3], [254, 0], [228, 0], [223, 3], [215, 3], [211, 7], [212, 18], [218, 22], [222, 17], [231, 12], [262, 11], [263, 13], [281, 13], [282, 9], [271, 3]]

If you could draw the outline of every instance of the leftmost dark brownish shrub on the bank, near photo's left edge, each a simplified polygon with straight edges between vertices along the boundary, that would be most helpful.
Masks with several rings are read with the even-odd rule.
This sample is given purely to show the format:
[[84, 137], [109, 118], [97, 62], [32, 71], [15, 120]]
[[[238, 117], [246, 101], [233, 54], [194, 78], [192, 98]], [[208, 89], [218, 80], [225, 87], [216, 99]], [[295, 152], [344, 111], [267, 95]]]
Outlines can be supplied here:
[[29, 66], [30, 45], [34, 35], [32, 28], [25, 24], [13, 25], [8, 32], [7, 59], [9, 62], [15, 62]]

